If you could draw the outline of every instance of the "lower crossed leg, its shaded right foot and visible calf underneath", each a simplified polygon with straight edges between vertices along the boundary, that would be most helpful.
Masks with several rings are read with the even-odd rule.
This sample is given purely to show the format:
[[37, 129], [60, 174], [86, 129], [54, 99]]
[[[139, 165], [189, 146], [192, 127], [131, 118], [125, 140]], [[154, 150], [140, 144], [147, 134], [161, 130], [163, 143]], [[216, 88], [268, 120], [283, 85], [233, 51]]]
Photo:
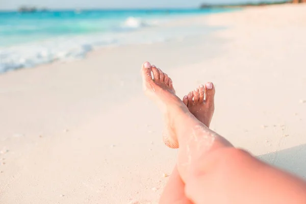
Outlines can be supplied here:
[[[214, 95], [213, 84], [207, 83], [205, 86], [200, 85], [183, 98], [183, 103], [188, 107], [189, 111], [208, 127], [214, 114]], [[160, 203], [191, 203], [185, 195], [185, 184], [181, 179], [177, 166], [173, 169]]]

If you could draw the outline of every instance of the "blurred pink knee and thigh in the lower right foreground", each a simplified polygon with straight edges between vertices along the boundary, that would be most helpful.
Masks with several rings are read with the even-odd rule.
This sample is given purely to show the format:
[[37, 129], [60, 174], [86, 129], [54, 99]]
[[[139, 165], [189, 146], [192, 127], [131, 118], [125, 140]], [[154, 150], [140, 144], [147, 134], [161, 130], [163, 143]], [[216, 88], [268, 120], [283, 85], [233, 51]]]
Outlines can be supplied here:
[[306, 203], [306, 184], [244, 150], [224, 148], [194, 164], [186, 196], [194, 203], [302, 204]]

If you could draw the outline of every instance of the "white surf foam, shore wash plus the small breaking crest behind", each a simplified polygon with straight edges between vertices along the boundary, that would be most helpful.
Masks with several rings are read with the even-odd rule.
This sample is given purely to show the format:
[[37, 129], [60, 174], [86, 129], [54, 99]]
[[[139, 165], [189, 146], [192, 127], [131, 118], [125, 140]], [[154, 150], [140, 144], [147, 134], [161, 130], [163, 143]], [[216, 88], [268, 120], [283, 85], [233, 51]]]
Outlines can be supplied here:
[[[137, 43], [141, 41], [139, 38], [126, 37], [126, 34], [122, 32], [157, 24], [157, 21], [149, 22], [141, 18], [129, 17], [121, 23], [119, 28], [109, 34], [62, 37], [11, 47], [0, 47], [0, 73], [55, 61], [82, 59], [95, 47]], [[143, 39], [142, 42], [147, 41], [148, 39]]]

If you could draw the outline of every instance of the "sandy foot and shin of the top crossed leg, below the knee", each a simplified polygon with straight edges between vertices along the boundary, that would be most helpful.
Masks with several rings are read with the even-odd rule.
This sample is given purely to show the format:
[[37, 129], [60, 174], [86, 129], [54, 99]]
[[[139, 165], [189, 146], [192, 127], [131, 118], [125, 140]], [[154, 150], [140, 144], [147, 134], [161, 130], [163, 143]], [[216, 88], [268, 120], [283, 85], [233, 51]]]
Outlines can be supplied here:
[[[169, 79], [168, 83], [165, 83], [165, 74], [162, 71], [145, 62], [141, 72], [144, 92], [157, 103], [164, 114], [168, 130], [171, 132], [165, 142], [173, 148], [179, 147], [180, 144], [177, 169], [183, 182], [186, 183], [192, 166], [206, 165], [207, 162], [199, 163], [199, 161], [206, 157], [208, 152], [223, 147], [232, 147], [232, 144], [211, 131], [190, 113], [183, 101], [174, 94]], [[211, 164], [207, 164], [207, 167], [209, 165]]]

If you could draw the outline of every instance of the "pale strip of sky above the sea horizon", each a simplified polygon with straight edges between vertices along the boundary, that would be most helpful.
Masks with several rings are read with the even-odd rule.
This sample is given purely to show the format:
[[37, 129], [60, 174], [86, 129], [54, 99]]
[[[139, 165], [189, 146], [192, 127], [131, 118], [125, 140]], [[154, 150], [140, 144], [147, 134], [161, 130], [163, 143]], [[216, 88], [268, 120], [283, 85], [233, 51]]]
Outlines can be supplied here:
[[[20, 6], [49, 9], [82, 8], [196, 8], [202, 3], [262, 2], [263, 0], [0, 0], [0, 10], [15, 10]], [[277, 2], [281, 0], [266, 0]]]

